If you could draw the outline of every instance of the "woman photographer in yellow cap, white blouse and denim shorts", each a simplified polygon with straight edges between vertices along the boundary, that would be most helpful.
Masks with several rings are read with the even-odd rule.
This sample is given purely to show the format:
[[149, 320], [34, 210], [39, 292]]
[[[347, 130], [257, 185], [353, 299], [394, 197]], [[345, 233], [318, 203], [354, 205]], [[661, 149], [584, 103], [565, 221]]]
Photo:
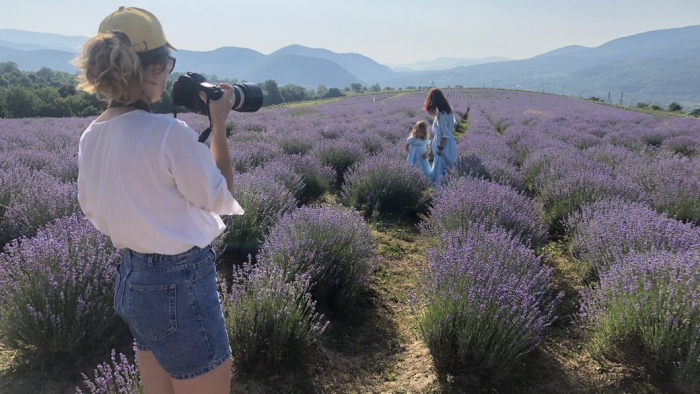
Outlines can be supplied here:
[[[85, 215], [122, 250], [116, 312], [129, 325], [146, 393], [226, 393], [231, 348], [211, 242], [219, 215], [241, 215], [225, 121], [232, 87], [211, 101], [211, 148], [184, 122], [151, 112], [175, 67], [150, 12], [120, 7], [75, 60], [80, 89], [109, 106], [84, 131], [78, 197]], [[201, 97], [206, 101], [206, 97]]]

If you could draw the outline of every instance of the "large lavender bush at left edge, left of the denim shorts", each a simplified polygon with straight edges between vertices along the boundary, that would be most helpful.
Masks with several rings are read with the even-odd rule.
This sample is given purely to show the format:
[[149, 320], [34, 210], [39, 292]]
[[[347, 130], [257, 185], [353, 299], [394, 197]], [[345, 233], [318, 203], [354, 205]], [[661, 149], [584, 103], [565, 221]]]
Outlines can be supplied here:
[[94, 346], [121, 322], [112, 288], [120, 255], [82, 214], [0, 254], [0, 337], [39, 356]]

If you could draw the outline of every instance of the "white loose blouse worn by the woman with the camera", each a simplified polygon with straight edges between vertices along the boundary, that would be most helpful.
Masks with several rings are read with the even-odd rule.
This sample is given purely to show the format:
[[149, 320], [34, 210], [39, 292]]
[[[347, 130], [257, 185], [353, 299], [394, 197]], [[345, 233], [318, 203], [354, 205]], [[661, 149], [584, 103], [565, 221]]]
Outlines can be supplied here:
[[179, 254], [205, 247], [242, 215], [209, 148], [183, 121], [131, 111], [80, 137], [78, 200], [117, 248]]

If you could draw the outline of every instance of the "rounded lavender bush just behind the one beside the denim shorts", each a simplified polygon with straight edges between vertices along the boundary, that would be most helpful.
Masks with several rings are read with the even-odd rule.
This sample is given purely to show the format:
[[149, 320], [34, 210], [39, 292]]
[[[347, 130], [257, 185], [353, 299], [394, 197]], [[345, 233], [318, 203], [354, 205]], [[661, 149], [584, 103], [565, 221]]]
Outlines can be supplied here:
[[261, 264], [289, 280], [309, 275], [314, 299], [330, 310], [351, 306], [367, 284], [374, 242], [361, 216], [342, 207], [302, 207], [283, 216], [260, 250]]

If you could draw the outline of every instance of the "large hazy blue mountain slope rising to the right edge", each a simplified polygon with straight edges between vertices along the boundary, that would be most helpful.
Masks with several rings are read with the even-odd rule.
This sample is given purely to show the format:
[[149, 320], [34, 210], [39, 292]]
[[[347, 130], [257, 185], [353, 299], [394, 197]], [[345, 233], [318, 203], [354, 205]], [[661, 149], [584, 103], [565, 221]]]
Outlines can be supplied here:
[[571, 46], [525, 60], [421, 72], [384, 85], [482, 86], [607, 97], [623, 103], [700, 103], [700, 25], [619, 38], [595, 48]]

